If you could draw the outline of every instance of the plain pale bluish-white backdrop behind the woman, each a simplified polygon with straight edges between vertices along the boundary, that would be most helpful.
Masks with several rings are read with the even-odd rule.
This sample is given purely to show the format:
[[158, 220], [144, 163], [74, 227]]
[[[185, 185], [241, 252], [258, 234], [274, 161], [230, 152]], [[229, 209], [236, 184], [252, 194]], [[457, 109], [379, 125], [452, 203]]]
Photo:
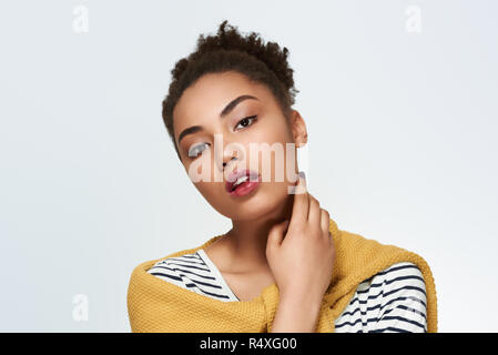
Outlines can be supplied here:
[[428, 262], [440, 332], [498, 331], [497, 17], [495, 1], [2, 1], [0, 331], [130, 332], [133, 267], [231, 227], [161, 118], [174, 63], [224, 19], [289, 50], [309, 191], [339, 229]]

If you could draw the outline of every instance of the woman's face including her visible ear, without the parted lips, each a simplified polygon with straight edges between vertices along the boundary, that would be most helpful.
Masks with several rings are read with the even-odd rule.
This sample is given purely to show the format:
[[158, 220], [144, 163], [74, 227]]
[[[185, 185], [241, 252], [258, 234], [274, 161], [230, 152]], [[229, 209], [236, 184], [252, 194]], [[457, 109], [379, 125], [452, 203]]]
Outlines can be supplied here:
[[[246, 99], [225, 109], [241, 95]], [[185, 131], [192, 126], [201, 129]], [[306, 128], [297, 111], [291, 120], [284, 116], [266, 85], [235, 71], [205, 74], [183, 92], [173, 128], [185, 171], [221, 214], [233, 221], [256, 220], [272, 215], [288, 197], [298, 170], [295, 150], [286, 143], [295, 149], [306, 143]], [[244, 169], [258, 173], [261, 183], [245, 195], [228, 193], [228, 175]]]

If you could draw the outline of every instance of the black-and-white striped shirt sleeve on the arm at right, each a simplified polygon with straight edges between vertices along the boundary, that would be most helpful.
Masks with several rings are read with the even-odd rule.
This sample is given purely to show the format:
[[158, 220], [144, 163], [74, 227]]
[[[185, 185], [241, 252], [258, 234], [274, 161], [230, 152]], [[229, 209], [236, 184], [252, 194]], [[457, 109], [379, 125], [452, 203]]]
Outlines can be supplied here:
[[394, 264], [373, 278], [382, 287], [382, 306], [374, 333], [425, 333], [426, 287], [413, 263]]

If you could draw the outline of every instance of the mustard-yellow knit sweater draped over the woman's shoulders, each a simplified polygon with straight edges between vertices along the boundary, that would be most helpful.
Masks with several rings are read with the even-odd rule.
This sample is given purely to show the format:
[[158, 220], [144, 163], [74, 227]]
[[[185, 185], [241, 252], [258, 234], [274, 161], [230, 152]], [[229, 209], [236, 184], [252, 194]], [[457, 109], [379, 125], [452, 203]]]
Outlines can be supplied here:
[[[437, 298], [433, 273], [419, 255], [394, 245], [384, 245], [358, 234], [341, 231], [331, 219], [336, 257], [333, 276], [319, 311], [317, 333], [333, 333], [336, 320], [349, 304], [357, 286], [399, 262], [418, 266], [426, 284], [427, 331], [437, 332]], [[278, 305], [275, 283], [248, 302], [223, 302], [165, 282], [146, 271], [160, 260], [194, 253], [215, 242], [183, 250], [138, 265], [128, 288], [128, 313], [132, 332], [164, 333], [265, 333], [272, 328]]]

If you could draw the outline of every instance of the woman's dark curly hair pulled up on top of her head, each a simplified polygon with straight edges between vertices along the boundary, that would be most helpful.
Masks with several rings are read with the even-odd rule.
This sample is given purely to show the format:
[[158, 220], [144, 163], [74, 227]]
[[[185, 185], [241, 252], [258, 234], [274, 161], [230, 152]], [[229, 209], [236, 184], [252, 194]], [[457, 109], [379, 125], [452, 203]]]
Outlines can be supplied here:
[[251, 81], [267, 85], [286, 119], [289, 118], [291, 106], [299, 92], [294, 88], [294, 70], [287, 62], [287, 48], [281, 49], [275, 42], [265, 44], [257, 32], [242, 37], [237, 28], [227, 22], [224, 20], [220, 24], [216, 36], [201, 34], [195, 51], [179, 60], [171, 71], [172, 82], [162, 102], [162, 115], [180, 160], [173, 131], [173, 109], [183, 91], [203, 74], [237, 71]]

